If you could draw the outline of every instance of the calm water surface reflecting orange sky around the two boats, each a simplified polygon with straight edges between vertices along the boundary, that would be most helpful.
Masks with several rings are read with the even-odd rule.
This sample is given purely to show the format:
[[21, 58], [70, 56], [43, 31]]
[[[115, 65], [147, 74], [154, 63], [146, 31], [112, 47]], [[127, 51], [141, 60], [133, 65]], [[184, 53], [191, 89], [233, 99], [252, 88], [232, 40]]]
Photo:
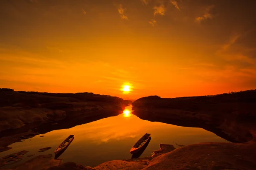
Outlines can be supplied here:
[[[131, 110], [131, 106], [127, 110]], [[0, 157], [22, 150], [29, 152], [24, 155], [24, 160], [2, 168], [14, 167], [37, 155], [52, 154], [54, 156], [56, 147], [70, 134], [74, 134], [75, 139], [59, 157], [59, 159], [63, 159], [63, 162], [73, 161], [84, 166], [95, 167], [105, 161], [130, 159], [131, 153], [129, 151], [131, 147], [145, 133], [151, 133], [151, 141], [140, 157], [151, 156], [153, 150], [159, 149], [160, 143], [173, 144], [176, 148], [179, 148], [178, 145], [199, 142], [227, 142], [227, 140], [214, 133], [201, 128], [149, 122], [125, 112], [118, 116], [100, 119], [70, 129], [53, 130], [32, 139], [11, 144], [9, 147], [12, 147], [12, 149], [0, 153]], [[44, 147], [52, 147], [52, 149], [39, 153], [39, 149]], [[35, 155], [28, 158], [27, 156], [31, 154]]]

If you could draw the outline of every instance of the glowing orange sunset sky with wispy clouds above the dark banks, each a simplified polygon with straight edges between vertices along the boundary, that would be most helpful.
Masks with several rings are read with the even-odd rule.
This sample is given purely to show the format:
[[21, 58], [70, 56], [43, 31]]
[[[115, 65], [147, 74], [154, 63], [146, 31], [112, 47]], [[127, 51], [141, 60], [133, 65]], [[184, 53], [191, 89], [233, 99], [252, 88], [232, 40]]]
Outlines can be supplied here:
[[[0, 87], [131, 99], [256, 88], [256, 1], [0, 1]], [[130, 94], [119, 90], [129, 82]]]

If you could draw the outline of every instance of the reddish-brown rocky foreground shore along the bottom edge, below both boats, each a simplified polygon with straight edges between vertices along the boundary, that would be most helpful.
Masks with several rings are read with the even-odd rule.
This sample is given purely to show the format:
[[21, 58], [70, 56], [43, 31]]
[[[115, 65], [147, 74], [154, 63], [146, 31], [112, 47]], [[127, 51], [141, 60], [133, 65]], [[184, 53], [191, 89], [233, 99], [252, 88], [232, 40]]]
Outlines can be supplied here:
[[[141, 159], [113, 160], [96, 167], [37, 156], [9, 170], [255, 170], [256, 143], [199, 143], [175, 149], [160, 144], [160, 150]], [[40, 166], [39, 166], [40, 165]]]

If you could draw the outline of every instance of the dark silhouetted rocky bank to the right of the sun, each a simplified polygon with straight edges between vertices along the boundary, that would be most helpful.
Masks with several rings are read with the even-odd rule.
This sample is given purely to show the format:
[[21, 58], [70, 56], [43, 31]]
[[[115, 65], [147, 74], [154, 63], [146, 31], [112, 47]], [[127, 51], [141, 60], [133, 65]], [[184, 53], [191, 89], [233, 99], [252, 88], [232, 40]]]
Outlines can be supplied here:
[[143, 97], [133, 114], [152, 122], [201, 127], [230, 142], [247, 142], [256, 132], [256, 90], [216, 96]]

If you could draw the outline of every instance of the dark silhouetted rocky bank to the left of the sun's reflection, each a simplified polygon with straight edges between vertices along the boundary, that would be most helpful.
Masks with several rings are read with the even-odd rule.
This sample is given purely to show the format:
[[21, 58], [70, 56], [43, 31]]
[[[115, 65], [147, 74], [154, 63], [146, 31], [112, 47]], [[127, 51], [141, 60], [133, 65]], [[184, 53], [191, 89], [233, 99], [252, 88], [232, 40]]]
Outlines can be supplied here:
[[116, 116], [131, 101], [93, 93], [55, 94], [0, 88], [0, 152], [22, 139]]

